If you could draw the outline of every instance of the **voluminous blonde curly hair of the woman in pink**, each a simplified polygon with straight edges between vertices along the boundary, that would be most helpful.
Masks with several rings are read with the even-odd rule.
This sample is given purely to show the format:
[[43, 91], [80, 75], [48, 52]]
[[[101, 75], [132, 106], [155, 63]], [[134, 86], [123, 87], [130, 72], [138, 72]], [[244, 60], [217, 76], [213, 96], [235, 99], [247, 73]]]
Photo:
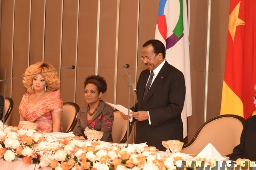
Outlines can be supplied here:
[[51, 91], [57, 91], [60, 87], [60, 79], [58, 77], [57, 71], [55, 70], [53, 65], [47, 62], [36, 62], [35, 64], [30, 65], [25, 73], [23, 75], [28, 75], [26, 77], [23, 77], [22, 82], [24, 83], [24, 86], [28, 89], [28, 92], [35, 93], [35, 90], [32, 89], [32, 83], [33, 79], [36, 75], [30, 75], [30, 74], [40, 74], [45, 71], [51, 71], [48, 73], [42, 73], [42, 76], [44, 77], [44, 80], [46, 81], [47, 88], [46, 90]]

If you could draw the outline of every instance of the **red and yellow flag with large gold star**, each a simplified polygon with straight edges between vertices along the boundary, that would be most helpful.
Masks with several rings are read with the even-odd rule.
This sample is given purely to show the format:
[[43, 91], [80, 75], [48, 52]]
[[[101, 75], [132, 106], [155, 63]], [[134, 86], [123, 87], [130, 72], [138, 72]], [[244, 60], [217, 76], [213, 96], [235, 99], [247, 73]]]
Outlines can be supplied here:
[[256, 1], [230, 0], [226, 67], [220, 114], [247, 119], [255, 110]]

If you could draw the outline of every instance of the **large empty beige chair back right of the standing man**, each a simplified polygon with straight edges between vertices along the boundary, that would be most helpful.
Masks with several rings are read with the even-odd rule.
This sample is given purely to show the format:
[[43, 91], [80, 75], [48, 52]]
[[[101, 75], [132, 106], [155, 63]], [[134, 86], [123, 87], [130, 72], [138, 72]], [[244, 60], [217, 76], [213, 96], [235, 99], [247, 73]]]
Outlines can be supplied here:
[[245, 124], [238, 115], [219, 115], [206, 121], [188, 144], [180, 152], [199, 154], [211, 143], [222, 156], [232, 154], [234, 147], [240, 144], [240, 136]]

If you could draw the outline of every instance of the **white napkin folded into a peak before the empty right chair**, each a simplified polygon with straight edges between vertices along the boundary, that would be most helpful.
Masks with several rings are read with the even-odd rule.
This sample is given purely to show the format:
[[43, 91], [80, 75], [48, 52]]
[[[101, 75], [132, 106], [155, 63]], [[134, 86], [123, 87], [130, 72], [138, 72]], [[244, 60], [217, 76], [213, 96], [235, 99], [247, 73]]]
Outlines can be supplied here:
[[208, 143], [204, 149], [196, 156], [196, 158], [222, 158], [220, 152], [214, 148], [211, 143]]

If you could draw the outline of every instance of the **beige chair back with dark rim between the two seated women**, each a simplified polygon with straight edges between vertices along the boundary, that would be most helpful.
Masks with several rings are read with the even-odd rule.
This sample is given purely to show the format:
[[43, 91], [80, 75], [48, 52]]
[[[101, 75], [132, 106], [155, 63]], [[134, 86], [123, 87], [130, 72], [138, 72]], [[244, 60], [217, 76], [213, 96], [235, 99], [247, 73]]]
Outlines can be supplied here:
[[63, 132], [71, 132], [74, 130], [77, 123], [77, 115], [79, 112], [79, 106], [73, 102], [63, 103], [63, 112], [62, 112], [62, 127]]

